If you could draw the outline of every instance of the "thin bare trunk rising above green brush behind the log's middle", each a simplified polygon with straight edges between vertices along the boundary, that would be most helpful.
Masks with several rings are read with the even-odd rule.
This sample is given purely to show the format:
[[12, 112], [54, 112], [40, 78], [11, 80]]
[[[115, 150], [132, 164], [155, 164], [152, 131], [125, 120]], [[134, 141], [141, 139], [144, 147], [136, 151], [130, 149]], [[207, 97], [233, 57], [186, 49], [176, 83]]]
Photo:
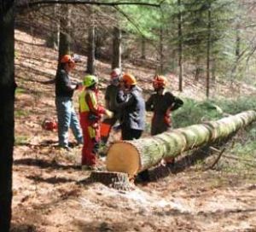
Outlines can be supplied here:
[[210, 55], [211, 55], [211, 30], [212, 30], [212, 13], [211, 13], [211, 4], [208, 9], [208, 38], [207, 38], [207, 98], [210, 96]]

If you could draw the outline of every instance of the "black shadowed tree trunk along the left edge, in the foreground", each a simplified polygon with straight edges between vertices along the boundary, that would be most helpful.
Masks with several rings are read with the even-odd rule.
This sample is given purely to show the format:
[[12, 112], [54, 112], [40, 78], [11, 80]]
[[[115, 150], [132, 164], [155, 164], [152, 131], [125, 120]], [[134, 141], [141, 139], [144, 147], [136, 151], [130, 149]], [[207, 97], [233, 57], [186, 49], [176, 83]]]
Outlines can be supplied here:
[[14, 1], [0, 1], [0, 231], [9, 231], [15, 102]]

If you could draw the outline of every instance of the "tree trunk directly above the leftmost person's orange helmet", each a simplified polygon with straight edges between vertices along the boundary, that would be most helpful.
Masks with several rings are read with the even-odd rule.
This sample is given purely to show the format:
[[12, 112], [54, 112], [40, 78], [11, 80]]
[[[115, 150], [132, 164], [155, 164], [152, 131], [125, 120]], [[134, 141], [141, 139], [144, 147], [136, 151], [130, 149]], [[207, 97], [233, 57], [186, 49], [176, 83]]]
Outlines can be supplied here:
[[68, 7], [68, 5], [61, 5], [61, 14], [63, 17], [61, 17], [60, 25], [61, 25], [61, 31], [60, 31], [60, 44], [59, 44], [59, 61], [61, 61], [61, 57], [63, 55], [70, 53], [70, 14], [71, 10]]

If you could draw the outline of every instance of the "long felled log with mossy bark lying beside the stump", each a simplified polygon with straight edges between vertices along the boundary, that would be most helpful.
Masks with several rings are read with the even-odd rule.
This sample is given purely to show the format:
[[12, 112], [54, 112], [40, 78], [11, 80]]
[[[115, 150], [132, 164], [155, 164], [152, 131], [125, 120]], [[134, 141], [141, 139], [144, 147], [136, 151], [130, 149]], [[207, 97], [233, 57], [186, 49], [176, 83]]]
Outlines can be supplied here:
[[134, 177], [138, 172], [157, 165], [163, 158], [176, 157], [183, 151], [221, 140], [254, 120], [256, 111], [247, 111], [157, 136], [115, 142], [108, 149], [107, 170], [125, 172]]

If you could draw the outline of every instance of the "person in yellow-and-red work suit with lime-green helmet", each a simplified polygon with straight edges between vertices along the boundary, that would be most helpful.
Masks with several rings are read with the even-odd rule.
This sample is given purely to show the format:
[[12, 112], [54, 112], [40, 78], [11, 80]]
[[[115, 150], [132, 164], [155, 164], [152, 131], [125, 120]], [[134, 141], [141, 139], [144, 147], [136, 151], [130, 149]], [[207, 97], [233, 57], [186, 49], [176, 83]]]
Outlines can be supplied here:
[[79, 96], [80, 124], [84, 136], [82, 149], [82, 169], [96, 169], [96, 154], [100, 142], [100, 119], [102, 114], [108, 118], [113, 113], [98, 104], [98, 78], [84, 77], [84, 90]]

